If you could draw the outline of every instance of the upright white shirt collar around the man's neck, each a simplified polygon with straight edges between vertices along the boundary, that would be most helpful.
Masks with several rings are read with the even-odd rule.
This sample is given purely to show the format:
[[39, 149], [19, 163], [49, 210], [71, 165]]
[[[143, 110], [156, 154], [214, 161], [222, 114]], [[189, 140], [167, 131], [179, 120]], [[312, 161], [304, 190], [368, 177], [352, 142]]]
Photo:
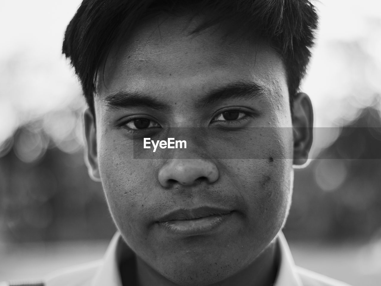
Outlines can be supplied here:
[[[295, 271], [295, 264], [290, 248], [282, 231], [278, 233], [277, 243], [280, 250], [280, 262], [274, 286], [302, 286], [300, 278]], [[131, 249], [125, 247], [120, 233], [115, 233], [109, 247], [107, 247], [103, 263], [96, 272], [91, 286], [122, 286], [119, 264], [122, 258], [125, 259], [132, 255], [134, 255], [134, 253]]]

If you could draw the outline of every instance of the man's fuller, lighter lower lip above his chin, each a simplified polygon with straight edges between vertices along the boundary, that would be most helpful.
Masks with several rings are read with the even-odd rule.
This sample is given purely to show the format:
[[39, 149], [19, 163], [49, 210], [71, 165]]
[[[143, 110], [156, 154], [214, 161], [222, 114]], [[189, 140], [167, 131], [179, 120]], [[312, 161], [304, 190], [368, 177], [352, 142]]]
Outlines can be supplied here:
[[192, 220], [171, 220], [159, 224], [166, 230], [179, 235], [201, 235], [219, 227], [231, 214], [209, 215]]

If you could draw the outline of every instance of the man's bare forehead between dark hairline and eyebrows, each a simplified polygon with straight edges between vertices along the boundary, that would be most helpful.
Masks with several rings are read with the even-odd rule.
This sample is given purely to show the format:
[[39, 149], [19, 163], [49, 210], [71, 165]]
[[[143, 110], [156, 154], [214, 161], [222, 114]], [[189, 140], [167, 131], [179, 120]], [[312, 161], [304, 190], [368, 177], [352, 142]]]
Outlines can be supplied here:
[[[110, 51], [99, 72], [98, 94], [166, 84], [192, 88], [192, 83], [208, 85], [208, 81], [212, 85], [234, 80], [264, 84], [261, 78], [283, 76], [281, 59], [263, 41], [229, 38], [216, 27], [191, 35], [200, 21], [158, 17], [136, 27]], [[253, 69], [260, 72], [255, 74]]]

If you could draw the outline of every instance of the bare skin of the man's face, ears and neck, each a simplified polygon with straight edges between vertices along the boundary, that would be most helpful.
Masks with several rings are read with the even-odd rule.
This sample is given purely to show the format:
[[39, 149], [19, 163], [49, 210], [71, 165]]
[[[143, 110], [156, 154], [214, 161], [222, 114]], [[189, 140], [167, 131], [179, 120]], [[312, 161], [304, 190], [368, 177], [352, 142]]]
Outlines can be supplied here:
[[[272, 242], [290, 207], [293, 163], [304, 164], [311, 147], [303, 128], [312, 126], [311, 103], [299, 94], [291, 118], [282, 60], [266, 43], [226, 38], [213, 27], [189, 35], [197, 18], [159, 20], [139, 25], [106, 61], [95, 121], [85, 113], [90, 174], [102, 182], [115, 224], [137, 255], [139, 284], [268, 285], [276, 270]], [[255, 82], [263, 94], [198, 104], [237, 81]], [[110, 108], [105, 98], [116, 92], [143, 93], [167, 108]], [[237, 108], [242, 119], [221, 117]], [[176, 130], [187, 149], [150, 150], [149, 159], [134, 159], [134, 150], [144, 151], [129, 130], [136, 118], [154, 122], [148, 128], [154, 134], [143, 131], [141, 138], [173, 137]], [[206, 133], [209, 127], [215, 128]], [[232, 213], [195, 236], [157, 223], [170, 211], [200, 206]]]

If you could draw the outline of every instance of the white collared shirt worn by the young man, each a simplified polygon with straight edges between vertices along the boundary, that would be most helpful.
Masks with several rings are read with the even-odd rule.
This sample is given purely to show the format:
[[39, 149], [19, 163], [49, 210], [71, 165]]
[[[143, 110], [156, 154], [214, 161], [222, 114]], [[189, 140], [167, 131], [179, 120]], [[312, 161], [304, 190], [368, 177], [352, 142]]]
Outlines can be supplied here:
[[[349, 286], [315, 272], [295, 266], [287, 241], [280, 231], [277, 237], [280, 264], [274, 286]], [[116, 233], [102, 260], [54, 272], [45, 279], [45, 286], [122, 286], [119, 262], [122, 237]], [[124, 251], [125, 252], [125, 251]], [[134, 255], [130, 253], [125, 254]], [[0, 283], [0, 286], [7, 285]]]

